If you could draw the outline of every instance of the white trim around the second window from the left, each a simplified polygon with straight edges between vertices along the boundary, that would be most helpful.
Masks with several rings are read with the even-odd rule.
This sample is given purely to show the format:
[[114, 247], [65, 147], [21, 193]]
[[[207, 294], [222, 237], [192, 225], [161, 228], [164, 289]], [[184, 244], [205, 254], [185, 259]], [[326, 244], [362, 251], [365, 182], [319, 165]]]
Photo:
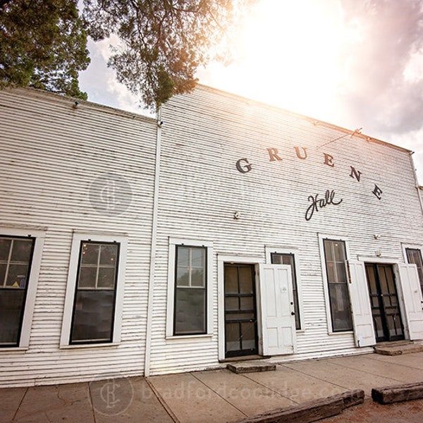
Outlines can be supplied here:
[[[80, 243], [83, 240], [91, 240], [99, 243], [119, 243], [118, 278], [116, 287], [116, 304], [114, 314], [114, 331], [111, 343], [81, 343], [69, 345], [71, 337], [71, 323], [73, 313], [73, 300], [75, 298], [76, 276], [78, 274]], [[96, 235], [87, 232], [74, 232], [71, 246], [71, 259], [69, 261], [68, 283], [66, 285], [65, 305], [60, 338], [60, 348], [87, 348], [94, 346], [109, 346], [121, 342], [123, 293], [125, 290], [125, 267], [128, 250], [128, 237], [123, 235]]]

